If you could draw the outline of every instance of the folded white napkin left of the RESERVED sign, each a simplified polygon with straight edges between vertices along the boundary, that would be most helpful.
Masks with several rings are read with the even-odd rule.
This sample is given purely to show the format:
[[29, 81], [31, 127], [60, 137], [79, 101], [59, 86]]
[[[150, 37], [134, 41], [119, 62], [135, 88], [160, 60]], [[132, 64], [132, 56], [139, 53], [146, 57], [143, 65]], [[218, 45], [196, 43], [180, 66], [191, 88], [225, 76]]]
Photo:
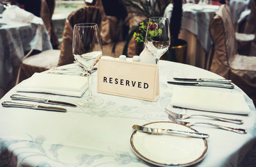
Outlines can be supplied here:
[[16, 88], [20, 92], [52, 93], [81, 97], [87, 89], [84, 77], [61, 74], [35, 73]]

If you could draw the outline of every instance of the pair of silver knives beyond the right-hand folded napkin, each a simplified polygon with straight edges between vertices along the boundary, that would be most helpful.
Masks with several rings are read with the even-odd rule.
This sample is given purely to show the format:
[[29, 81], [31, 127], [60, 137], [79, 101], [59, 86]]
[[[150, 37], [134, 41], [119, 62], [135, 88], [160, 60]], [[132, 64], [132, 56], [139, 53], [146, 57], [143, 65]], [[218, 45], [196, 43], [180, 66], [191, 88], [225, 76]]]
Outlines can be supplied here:
[[182, 86], [210, 86], [217, 88], [234, 88], [234, 84], [229, 79], [187, 79], [174, 78], [176, 81], [167, 81], [168, 84]]

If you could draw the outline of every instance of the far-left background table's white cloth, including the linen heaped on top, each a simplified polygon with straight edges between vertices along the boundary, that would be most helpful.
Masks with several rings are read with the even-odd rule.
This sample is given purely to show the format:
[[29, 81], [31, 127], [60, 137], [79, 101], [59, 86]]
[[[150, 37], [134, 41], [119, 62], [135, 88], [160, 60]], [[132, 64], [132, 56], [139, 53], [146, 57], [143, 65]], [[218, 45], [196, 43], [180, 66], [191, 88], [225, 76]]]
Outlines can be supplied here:
[[8, 6], [0, 23], [0, 89], [15, 83], [17, 68], [31, 49], [52, 49], [43, 19], [18, 6]]

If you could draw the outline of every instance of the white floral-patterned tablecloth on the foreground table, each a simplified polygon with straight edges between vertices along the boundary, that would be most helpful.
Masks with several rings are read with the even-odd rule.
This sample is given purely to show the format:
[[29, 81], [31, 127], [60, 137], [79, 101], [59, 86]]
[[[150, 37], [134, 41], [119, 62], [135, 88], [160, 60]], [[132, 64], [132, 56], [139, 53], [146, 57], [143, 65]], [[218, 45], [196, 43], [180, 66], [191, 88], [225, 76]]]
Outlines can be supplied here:
[[[96, 93], [95, 72], [92, 74], [92, 92], [103, 97], [104, 100], [104, 103], [96, 108], [64, 106], [68, 110], [67, 113], [59, 113], [0, 106], [0, 164], [54, 167], [151, 166], [133, 153], [130, 147], [130, 136], [135, 124], [168, 121], [164, 110], [166, 106], [170, 106], [174, 88], [190, 87], [167, 84], [167, 81], [173, 77], [221, 78], [212, 72], [181, 63], [160, 61], [159, 67], [160, 95], [156, 102]], [[10, 101], [10, 95], [17, 93], [15, 88], [10, 90], [0, 102]], [[195, 89], [243, 93], [236, 86], [232, 90], [210, 87], [195, 87]], [[77, 97], [45, 93], [20, 94], [73, 104], [77, 104], [79, 100]], [[195, 166], [237, 166], [253, 148], [256, 141], [256, 110], [252, 100], [244, 93], [243, 97], [250, 108], [248, 116], [211, 113], [213, 116], [242, 119], [243, 125], [234, 125], [209, 118], [191, 118], [191, 120], [214, 122], [248, 130], [248, 134], [236, 134], [211, 126], [193, 126], [197, 131], [210, 135], [206, 139], [209, 146], [206, 157]], [[35, 104], [35, 102], [26, 103]], [[209, 114], [209, 112], [199, 112]], [[190, 113], [190, 111], [182, 110], [181, 113]]]

